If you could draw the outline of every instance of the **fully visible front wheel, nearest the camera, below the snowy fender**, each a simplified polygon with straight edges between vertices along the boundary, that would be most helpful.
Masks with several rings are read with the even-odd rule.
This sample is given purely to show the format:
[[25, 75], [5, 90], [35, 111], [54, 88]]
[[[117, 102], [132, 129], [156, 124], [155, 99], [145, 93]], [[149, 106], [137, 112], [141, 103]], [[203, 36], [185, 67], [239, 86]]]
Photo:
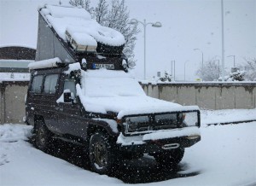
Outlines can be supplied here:
[[113, 170], [116, 159], [114, 142], [102, 131], [90, 137], [89, 158], [92, 171], [99, 174], [108, 174]]

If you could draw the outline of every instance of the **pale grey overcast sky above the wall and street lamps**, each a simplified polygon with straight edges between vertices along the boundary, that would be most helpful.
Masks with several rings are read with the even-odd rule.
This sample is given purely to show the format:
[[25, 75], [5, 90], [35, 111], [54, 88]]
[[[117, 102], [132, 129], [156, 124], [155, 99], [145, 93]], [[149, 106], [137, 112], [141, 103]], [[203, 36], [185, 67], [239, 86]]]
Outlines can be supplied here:
[[[0, 0], [0, 45], [19, 44], [36, 48], [38, 4], [42, 0]], [[68, 2], [68, 1], [66, 1]], [[92, 5], [96, 0], [91, 0]], [[109, 1], [110, 2], [110, 1]], [[171, 70], [176, 61], [176, 78], [195, 80], [195, 70], [204, 61], [217, 56], [221, 60], [221, 0], [126, 0], [131, 18], [160, 21], [162, 27], [147, 26], [148, 78]], [[137, 36], [137, 78], [143, 78], [143, 26]], [[225, 55], [256, 57], [256, 1], [224, 0]], [[201, 49], [201, 50], [194, 50]], [[233, 57], [225, 57], [225, 67], [233, 66]]]

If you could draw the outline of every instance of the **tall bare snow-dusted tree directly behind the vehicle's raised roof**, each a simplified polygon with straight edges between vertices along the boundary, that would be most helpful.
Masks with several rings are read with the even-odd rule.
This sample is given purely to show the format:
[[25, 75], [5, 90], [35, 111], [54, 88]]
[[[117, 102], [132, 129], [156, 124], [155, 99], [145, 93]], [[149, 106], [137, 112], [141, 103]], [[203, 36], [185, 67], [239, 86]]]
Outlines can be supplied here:
[[[87, 2], [87, 3], [86, 3]], [[70, 0], [73, 6], [82, 6], [88, 11], [90, 8], [90, 0]], [[86, 4], [87, 8], [86, 8]], [[96, 18], [102, 26], [108, 26], [119, 32], [125, 37], [124, 54], [128, 58], [129, 67], [135, 67], [134, 48], [137, 40], [136, 35], [139, 31], [137, 25], [129, 24], [129, 10], [125, 5], [125, 0], [112, 0], [110, 7], [106, 0], [99, 0], [96, 8], [93, 9], [92, 16]], [[90, 14], [92, 11], [89, 11]]]

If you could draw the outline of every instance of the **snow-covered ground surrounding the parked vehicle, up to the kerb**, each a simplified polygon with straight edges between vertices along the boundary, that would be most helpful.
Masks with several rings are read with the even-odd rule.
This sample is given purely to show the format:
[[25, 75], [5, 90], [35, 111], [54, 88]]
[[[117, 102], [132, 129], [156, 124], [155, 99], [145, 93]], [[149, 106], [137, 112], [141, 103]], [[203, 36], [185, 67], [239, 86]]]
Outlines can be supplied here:
[[[201, 142], [187, 148], [172, 171], [160, 170], [145, 157], [127, 163], [114, 177], [74, 166], [63, 148], [57, 157], [26, 142], [30, 126], [0, 125], [0, 185], [256, 185], [256, 122], [238, 125], [203, 125]], [[60, 158], [61, 157], [61, 158]], [[67, 157], [66, 157], [67, 158]], [[71, 159], [72, 160], [72, 159]], [[75, 160], [75, 159], [73, 159]], [[118, 178], [116, 178], [118, 177]]]

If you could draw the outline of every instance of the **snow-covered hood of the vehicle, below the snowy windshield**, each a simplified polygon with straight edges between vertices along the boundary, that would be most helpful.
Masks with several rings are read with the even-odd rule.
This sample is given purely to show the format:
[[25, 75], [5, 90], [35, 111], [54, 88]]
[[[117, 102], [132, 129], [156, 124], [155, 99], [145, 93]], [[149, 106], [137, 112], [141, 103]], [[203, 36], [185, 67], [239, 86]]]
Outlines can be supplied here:
[[163, 113], [183, 108], [181, 105], [154, 99], [149, 96], [84, 97], [85, 110], [95, 113], [118, 113], [121, 119], [125, 115], [143, 113]]

